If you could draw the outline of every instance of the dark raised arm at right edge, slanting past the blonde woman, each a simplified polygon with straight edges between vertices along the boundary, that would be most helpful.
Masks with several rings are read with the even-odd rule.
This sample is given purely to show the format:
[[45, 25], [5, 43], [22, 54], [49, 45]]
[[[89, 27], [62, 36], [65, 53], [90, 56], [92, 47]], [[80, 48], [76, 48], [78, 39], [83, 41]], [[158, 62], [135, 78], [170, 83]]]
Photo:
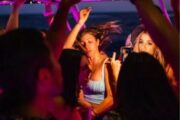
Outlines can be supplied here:
[[174, 26], [166, 21], [152, 0], [131, 0], [142, 18], [142, 22], [154, 42], [159, 46], [166, 60], [172, 65], [176, 78], [179, 78], [179, 34]]

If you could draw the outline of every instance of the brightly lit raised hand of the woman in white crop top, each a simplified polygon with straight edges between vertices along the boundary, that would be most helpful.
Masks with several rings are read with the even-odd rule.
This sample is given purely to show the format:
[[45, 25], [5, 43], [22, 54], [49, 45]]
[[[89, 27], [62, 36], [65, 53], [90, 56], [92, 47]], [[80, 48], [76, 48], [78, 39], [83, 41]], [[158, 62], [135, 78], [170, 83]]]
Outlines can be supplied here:
[[91, 12], [91, 7], [86, 7], [81, 9], [78, 23], [83, 25], [87, 21], [90, 12]]

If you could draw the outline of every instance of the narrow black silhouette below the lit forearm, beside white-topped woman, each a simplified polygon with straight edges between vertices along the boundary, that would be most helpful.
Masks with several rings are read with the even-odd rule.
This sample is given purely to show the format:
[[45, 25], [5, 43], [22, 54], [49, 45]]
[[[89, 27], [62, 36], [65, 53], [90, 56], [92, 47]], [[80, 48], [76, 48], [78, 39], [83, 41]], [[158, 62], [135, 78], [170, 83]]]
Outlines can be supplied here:
[[77, 105], [80, 61], [82, 55], [83, 53], [79, 50], [64, 49], [59, 59], [64, 79], [62, 96], [65, 103], [71, 107], [75, 107]]

